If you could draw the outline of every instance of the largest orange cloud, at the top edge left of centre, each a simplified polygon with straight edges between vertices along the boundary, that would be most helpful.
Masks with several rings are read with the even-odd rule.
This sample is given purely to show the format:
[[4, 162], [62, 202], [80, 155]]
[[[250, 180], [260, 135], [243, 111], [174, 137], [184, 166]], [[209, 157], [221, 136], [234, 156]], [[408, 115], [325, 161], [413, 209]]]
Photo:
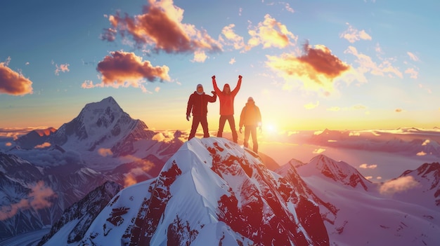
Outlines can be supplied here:
[[205, 30], [184, 24], [183, 9], [174, 6], [172, 0], [149, 0], [141, 15], [133, 17], [110, 15], [113, 28], [106, 29], [101, 39], [115, 40], [115, 32], [122, 36], [129, 34], [138, 45], [155, 46], [155, 50], [167, 53], [187, 53], [195, 50], [220, 51], [221, 45]]

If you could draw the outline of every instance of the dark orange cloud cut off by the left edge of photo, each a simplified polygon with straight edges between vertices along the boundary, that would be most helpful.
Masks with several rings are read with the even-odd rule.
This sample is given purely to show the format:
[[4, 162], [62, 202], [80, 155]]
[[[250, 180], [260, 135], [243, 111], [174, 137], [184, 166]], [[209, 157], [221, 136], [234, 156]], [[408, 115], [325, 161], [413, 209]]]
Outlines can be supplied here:
[[25, 78], [21, 73], [8, 67], [11, 58], [6, 62], [0, 62], [0, 93], [9, 95], [32, 94], [32, 81]]

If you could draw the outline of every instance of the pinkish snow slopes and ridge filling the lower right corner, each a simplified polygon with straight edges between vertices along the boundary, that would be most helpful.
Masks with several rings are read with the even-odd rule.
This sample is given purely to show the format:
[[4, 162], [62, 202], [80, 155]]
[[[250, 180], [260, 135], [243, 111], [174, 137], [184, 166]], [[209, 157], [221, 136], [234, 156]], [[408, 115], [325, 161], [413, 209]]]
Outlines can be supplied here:
[[[330, 245], [413, 246], [440, 242], [440, 212], [434, 205], [438, 168], [436, 163], [424, 164], [405, 172], [403, 179], [364, 182], [368, 189], [362, 177], [361, 182], [347, 182], [359, 180], [355, 168], [326, 156], [316, 156], [296, 169], [318, 198], [337, 207], [335, 218], [325, 220]], [[321, 213], [325, 211], [323, 203], [318, 205]]]

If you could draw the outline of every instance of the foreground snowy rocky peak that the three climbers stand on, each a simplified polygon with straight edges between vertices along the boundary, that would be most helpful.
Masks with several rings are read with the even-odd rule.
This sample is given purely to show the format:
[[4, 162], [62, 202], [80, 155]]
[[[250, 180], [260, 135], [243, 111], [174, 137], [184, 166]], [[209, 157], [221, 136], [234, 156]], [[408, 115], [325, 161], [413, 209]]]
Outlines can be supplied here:
[[193, 138], [158, 177], [112, 198], [78, 244], [329, 245], [318, 206], [302, 192], [238, 144]]

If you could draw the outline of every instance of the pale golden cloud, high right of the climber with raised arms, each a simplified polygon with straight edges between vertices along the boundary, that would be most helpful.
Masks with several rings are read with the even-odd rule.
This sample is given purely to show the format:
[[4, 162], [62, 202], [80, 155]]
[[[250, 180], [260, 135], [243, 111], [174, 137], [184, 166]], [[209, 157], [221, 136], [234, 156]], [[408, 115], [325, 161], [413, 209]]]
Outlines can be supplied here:
[[263, 48], [285, 48], [296, 43], [297, 37], [287, 30], [287, 27], [277, 22], [271, 15], [265, 15], [264, 21], [259, 22], [257, 27], [250, 27], [248, 31], [251, 39], [247, 41], [246, 50], [250, 50], [260, 44]]

